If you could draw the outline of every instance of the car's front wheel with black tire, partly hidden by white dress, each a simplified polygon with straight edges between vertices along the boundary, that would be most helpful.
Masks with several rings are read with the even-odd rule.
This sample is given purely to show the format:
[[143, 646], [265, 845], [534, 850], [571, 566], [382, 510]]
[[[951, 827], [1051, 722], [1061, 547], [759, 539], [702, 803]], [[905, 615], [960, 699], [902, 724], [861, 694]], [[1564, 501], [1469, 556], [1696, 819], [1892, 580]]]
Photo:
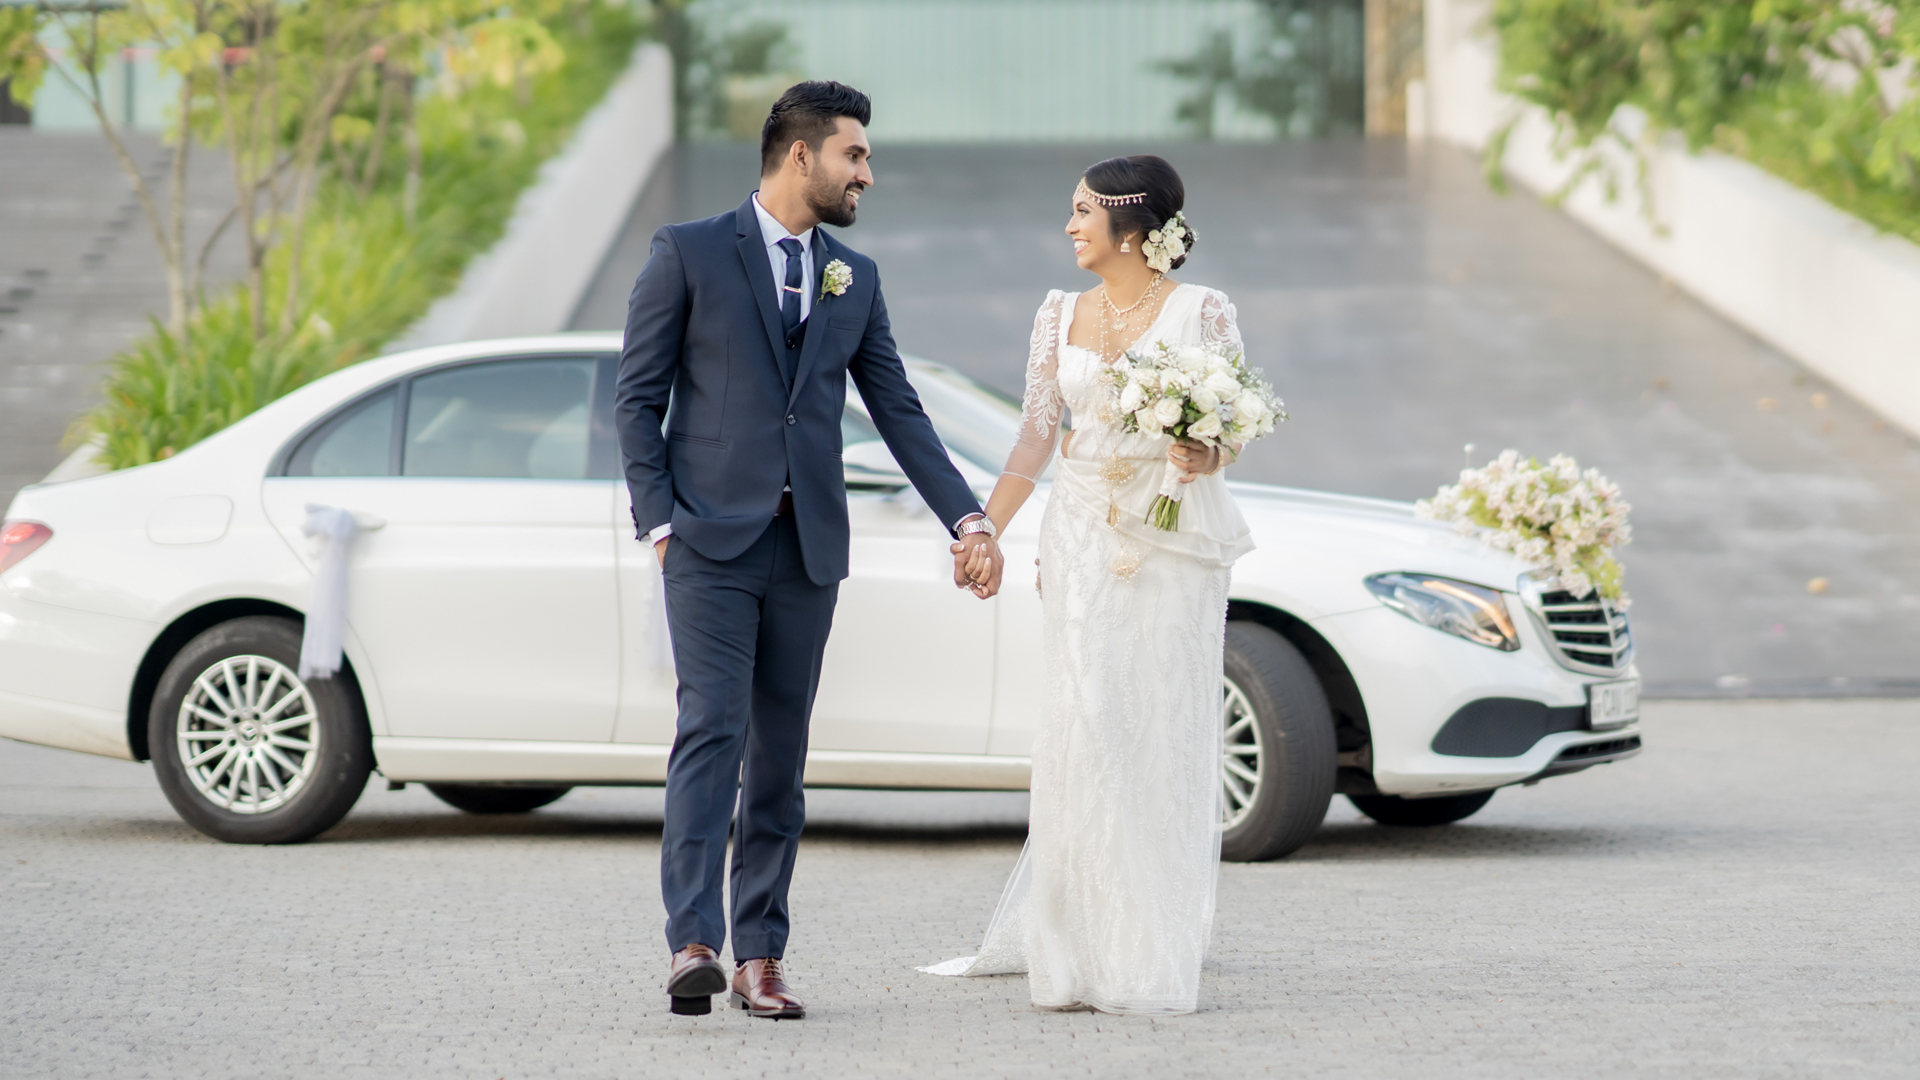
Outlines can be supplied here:
[[1227, 623], [1225, 659], [1219, 857], [1279, 859], [1327, 821], [1338, 773], [1332, 707], [1300, 650], [1267, 626]]

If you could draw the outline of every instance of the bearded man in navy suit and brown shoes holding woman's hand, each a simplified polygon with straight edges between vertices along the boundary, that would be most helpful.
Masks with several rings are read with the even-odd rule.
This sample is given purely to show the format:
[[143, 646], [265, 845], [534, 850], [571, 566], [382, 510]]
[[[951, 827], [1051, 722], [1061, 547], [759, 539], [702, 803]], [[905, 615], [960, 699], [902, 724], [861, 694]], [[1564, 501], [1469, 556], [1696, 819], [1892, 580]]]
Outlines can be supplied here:
[[[839, 83], [781, 94], [760, 131], [760, 190], [732, 213], [655, 233], [628, 300], [616, 425], [634, 525], [660, 557], [680, 676], [660, 842], [674, 1013], [707, 1013], [728, 986], [733, 824], [733, 1005], [806, 1015], [780, 959], [806, 817], [806, 721], [847, 577], [849, 375], [954, 532], [954, 584], [979, 598], [998, 588], [993, 523], [906, 382], [874, 261], [820, 229], [852, 225], [874, 184], [868, 115], [866, 94]], [[981, 544], [995, 575], [973, 584], [964, 565]]]

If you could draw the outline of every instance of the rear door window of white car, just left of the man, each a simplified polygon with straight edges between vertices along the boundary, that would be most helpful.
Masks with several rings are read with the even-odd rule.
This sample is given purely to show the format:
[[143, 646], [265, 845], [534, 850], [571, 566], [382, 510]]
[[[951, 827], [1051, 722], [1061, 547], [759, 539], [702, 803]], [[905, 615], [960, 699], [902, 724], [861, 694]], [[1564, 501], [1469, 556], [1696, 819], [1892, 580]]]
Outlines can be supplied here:
[[413, 380], [403, 477], [584, 480], [593, 357], [499, 359]]

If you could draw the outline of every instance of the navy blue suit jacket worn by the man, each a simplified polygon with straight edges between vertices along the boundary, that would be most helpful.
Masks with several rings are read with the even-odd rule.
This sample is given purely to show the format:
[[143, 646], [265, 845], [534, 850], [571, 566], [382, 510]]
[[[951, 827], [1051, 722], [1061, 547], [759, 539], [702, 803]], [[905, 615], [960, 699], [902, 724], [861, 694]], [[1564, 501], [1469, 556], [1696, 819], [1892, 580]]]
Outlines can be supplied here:
[[[753, 200], [655, 233], [628, 300], [614, 425], [641, 536], [672, 521], [676, 544], [733, 559], [774, 521], [791, 484], [806, 577], [831, 584], [847, 577], [847, 375], [941, 523], [979, 513], [979, 502], [906, 380], [874, 259], [818, 227], [812, 254], [816, 300], [789, 386]], [[820, 296], [833, 259], [852, 269], [852, 284]]]

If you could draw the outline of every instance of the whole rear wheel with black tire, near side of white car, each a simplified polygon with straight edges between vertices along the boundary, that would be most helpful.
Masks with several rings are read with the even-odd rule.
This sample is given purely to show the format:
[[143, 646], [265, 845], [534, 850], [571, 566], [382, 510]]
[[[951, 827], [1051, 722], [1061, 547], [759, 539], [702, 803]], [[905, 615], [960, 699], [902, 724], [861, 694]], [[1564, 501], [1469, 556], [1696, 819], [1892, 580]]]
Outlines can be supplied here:
[[298, 844], [353, 809], [372, 773], [351, 673], [301, 680], [301, 625], [250, 615], [186, 642], [148, 711], [154, 773], [173, 809], [228, 844]]

